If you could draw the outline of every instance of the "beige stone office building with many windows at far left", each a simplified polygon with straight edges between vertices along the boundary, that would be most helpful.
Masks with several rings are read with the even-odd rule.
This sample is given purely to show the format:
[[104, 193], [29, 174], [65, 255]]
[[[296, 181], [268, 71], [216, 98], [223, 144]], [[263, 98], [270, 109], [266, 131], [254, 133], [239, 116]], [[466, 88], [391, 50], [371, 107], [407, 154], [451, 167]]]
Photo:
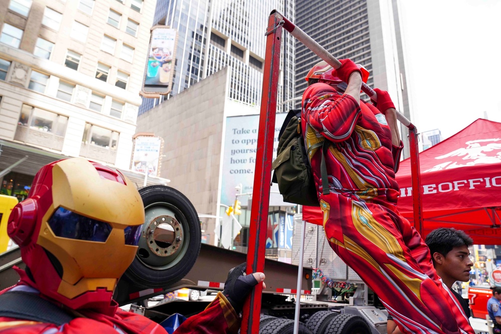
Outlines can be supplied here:
[[64, 157], [129, 169], [155, 5], [0, 0], [3, 193]]

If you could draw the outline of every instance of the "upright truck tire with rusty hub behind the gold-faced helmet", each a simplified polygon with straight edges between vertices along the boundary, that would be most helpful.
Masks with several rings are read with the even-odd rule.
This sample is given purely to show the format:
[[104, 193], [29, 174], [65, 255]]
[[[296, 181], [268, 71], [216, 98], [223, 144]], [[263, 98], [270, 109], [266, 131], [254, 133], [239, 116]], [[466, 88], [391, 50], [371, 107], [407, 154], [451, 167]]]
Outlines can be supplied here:
[[154, 185], [139, 189], [145, 222], [136, 257], [124, 276], [143, 288], [182, 279], [198, 257], [200, 220], [191, 202], [176, 189]]

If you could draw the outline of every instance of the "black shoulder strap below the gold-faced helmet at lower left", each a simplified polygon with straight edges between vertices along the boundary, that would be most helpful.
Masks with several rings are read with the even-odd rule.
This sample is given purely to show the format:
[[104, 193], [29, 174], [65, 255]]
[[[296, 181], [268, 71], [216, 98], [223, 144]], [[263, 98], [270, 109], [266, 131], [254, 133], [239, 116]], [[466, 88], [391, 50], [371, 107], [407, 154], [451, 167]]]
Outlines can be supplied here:
[[75, 318], [38, 293], [7, 291], [0, 295], [0, 316], [53, 323], [61, 326]]

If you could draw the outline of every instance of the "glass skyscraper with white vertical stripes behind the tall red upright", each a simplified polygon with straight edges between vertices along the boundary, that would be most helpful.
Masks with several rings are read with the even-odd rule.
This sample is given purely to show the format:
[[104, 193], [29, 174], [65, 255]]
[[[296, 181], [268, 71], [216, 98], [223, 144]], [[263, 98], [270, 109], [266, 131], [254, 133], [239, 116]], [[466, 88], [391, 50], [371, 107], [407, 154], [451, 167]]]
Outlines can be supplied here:
[[[143, 98], [139, 114], [231, 66], [229, 98], [248, 105], [261, 103], [266, 28], [277, 9], [294, 20], [291, 0], [159, 0], [154, 25], [178, 32], [172, 91], [160, 99]], [[295, 48], [292, 36], [282, 45], [278, 103], [286, 110], [294, 97]]]

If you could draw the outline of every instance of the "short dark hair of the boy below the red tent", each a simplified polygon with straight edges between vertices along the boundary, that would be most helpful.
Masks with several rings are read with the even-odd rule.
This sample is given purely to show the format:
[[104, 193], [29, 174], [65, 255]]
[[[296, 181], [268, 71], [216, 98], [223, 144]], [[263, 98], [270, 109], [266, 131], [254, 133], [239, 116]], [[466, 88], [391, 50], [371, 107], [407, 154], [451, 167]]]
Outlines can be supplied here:
[[473, 244], [473, 239], [471, 239], [468, 234], [464, 233], [462, 230], [456, 230], [455, 228], [437, 228], [433, 230], [426, 236], [424, 241], [430, 249], [431, 259], [435, 263], [433, 254], [438, 252], [443, 256], [447, 256], [447, 253], [454, 247], [460, 246], [471, 246]]

